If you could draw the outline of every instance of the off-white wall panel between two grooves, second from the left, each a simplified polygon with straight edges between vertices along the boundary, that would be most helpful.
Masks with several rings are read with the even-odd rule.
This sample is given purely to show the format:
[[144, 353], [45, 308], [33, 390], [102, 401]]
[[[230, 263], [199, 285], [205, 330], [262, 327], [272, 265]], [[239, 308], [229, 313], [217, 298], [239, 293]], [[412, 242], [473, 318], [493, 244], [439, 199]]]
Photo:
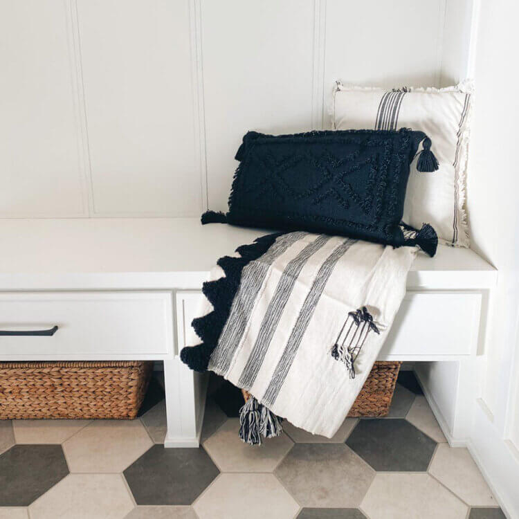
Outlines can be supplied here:
[[93, 216], [199, 215], [188, 0], [78, 0]]

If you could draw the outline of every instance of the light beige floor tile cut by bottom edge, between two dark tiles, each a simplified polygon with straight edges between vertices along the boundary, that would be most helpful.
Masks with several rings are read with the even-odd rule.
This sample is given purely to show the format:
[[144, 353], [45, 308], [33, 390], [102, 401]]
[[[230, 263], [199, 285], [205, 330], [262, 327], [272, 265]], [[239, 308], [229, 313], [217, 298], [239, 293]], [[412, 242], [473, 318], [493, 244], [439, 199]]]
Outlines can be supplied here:
[[361, 509], [370, 519], [465, 519], [468, 507], [428, 474], [378, 473]]

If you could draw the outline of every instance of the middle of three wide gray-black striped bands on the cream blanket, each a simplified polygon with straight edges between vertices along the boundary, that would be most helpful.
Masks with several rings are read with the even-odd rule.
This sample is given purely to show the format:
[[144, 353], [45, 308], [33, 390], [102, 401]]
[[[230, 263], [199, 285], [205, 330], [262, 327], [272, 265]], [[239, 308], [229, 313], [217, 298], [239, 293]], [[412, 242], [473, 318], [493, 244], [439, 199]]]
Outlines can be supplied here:
[[266, 350], [271, 343], [277, 325], [280, 322], [286, 302], [292, 293], [295, 281], [298, 279], [302, 268], [308, 260], [329, 241], [327, 235], [319, 235], [313, 242], [309, 243], [293, 260], [286, 265], [280, 280], [277, 282], [275, 292], [268, 303], [265, 315], [263, 316], [260, 331], [257, 334], [251, 355], [239, 377], [239, 387], [246, 390], [254, 384], [260, 367], [264, 361]]

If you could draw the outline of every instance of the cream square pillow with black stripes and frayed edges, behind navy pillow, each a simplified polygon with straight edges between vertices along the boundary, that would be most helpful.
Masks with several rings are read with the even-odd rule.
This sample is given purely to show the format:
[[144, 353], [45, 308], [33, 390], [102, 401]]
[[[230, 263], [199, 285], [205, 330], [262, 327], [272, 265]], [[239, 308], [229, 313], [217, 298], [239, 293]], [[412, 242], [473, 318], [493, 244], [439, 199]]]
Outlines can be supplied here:
[[473, 86], [465, 81], [444, 89], [383, 90], [337, 83], [334, 129], [424, 131], [435, 143], [439, 170], [421, 173], [411, 165], [403, 221], [420, 228], [427, 222], [440, 242], [468, 247], [466, 165]]

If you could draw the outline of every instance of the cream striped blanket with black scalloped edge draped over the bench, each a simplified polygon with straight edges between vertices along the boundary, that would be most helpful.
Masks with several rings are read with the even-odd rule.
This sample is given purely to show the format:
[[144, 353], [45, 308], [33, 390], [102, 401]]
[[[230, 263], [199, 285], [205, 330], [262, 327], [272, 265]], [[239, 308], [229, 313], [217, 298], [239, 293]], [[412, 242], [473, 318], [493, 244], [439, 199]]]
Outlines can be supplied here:
[[193, 321], [202, 342], [181, 358], [250, 392], [244, 441], [279, 434], [280, 417], [331, 437], [379, 354], [416, 253], [304, 232], [239, 247], [204, 284]]

